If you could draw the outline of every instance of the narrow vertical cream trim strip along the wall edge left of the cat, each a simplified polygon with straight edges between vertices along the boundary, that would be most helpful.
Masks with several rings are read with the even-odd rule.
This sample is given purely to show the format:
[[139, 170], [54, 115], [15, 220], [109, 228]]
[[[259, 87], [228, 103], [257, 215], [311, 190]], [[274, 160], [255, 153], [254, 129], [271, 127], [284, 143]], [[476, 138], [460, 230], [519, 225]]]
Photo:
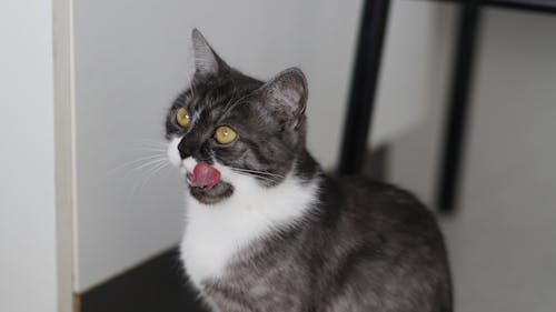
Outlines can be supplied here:
[[73, 308], [73, 0], [52, 1], [58, 311]]

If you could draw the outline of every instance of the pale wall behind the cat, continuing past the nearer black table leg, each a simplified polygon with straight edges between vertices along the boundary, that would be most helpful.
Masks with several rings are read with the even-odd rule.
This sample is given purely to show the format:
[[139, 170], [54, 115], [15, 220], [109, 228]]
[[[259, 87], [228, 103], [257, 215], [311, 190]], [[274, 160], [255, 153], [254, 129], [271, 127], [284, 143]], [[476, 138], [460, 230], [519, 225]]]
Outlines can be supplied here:
[[[148, 165], [139, 168], [141, 161], [121, 165], [153, 154], [146, 151], [153, 149], [151, 141], [163, 141], [166, 110], [188, 80], [190, 29], [199, 28], [228, 63], [255, 77], [268, 79], [299, 66], [309, 80], [309, 149], [331, 168], [344, 128], [361, 3], [76, 2], [78, 291], [180, 238], [182, 179], [166, 168], [151, 177]], [[393, 11], [386, 43], [391, 56], [383, 68], [375, 141], [417, 122], [431, 89], [421, 79], [428, 78], [421, 71], [435, 60], [429, 54], [431, 7], [394, 1]], [[415, 34], [405, 38], [406, 29]]]

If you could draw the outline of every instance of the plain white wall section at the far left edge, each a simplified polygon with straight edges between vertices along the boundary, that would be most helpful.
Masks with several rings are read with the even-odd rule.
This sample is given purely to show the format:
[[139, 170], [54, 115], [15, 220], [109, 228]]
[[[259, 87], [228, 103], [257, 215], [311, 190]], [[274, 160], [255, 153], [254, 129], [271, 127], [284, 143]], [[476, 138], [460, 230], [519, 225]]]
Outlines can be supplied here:
[[51, 16], [0, 4], [0, 311], [57, 311]]

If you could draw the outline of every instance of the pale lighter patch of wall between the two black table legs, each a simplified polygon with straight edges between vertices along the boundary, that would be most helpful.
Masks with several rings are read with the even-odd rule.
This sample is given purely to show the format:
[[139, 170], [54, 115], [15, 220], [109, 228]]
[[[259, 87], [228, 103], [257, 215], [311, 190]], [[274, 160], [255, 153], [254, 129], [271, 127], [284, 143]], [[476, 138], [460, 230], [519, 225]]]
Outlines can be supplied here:
[[391, 141], [425, 121], [441, 99], [445, 10], [434, 1], [391, 1], [369, 143]]

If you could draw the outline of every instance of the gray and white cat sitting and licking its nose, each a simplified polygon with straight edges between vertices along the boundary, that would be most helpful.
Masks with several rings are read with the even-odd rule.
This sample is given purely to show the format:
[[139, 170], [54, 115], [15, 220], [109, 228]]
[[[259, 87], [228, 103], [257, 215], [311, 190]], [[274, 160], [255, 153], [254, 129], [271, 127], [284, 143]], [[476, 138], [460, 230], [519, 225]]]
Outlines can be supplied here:
[[306, 149], [307, 81], [262, 82], [192, 31], [191, 84], [169, 109], [187, 181], [181, 260], [212, 311], [451, 311], [443, 235], [411, 194], [332, 179]]

